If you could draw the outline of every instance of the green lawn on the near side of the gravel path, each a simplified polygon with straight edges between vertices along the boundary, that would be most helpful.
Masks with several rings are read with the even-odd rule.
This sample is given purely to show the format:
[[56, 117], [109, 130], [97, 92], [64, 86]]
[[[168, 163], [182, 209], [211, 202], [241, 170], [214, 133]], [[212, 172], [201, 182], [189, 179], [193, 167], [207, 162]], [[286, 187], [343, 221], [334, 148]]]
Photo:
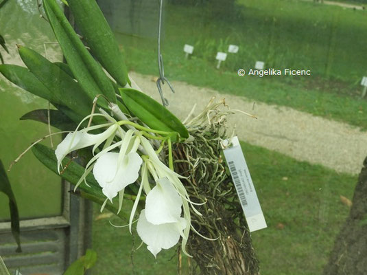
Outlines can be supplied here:
[[[340, 195], [351, 199], [357, 178], [244, 142], [241, 145], [268, 223], [268, 228], [252, 233], [261, 274], [321, 274], [348, 214]], [[95, 214], [99, 214], [97, 209]], [[118, 218], [110, 221], [124, 224]], [[108, 219], [101, 219], [93, 223], [93, 239], [99, 256], [94, 274], [132, 274], [128, 228], [113, 228]], [[134, 246], [139, 245], [135, 235]], [[156, 261], [146, 245], [133, 255], [136, 274], [176, 274], [174, 249], [161, 252]]]

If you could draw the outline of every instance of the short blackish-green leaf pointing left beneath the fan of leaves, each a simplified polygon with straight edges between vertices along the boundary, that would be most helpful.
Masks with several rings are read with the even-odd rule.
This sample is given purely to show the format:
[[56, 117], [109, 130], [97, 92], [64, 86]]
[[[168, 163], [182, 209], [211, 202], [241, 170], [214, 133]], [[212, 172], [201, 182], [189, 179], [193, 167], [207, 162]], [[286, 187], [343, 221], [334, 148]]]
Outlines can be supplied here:
[[[49, 120], [48, 120], [49, 111]], [[56, 127], [62, 131], [74, 130], [77, 126], [73, 120], [59, 110], [38, 109], [25, 113], [20, 120], [35, 120]]]

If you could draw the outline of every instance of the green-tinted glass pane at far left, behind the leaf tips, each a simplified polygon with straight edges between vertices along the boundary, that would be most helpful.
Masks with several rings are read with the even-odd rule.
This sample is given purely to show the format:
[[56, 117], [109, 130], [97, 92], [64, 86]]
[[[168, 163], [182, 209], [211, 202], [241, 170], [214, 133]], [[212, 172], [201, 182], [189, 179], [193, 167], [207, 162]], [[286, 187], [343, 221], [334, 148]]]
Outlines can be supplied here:
[[[1, 48], [5, 63], [23, 65], [16, 44], [27, 45], [51, 60], [60, 60], [60, 50], [54, 42], [49, 24], [40, 19], [36, 1], [9, 1], [0, 10], [1, 35], [10, 50]], [[44, 44], [45, 43], [45, 44]], [[45, 52], [46, 47], [46, 52]], [[23, 65], [24, 66], [24, 65]], [[34, 121], [19, 121], [34, 109], [47, 109], [48, 103], [0, 78], [0, 157], [5, 168], [32, 142], [48, 134], [47, 125]], [[56, 132], [57, 129], [51, 129]], [[54, 137], [54, 144], [59, 138]], [[49, 144], [49, 139], [45, 141]], [[61, 214], [62, 190], [60, 178], [38, 162], [31, 151], [8, 173], [22, 219]], [[8, 199], [0, 193], [0, 219], [9, 219]]]

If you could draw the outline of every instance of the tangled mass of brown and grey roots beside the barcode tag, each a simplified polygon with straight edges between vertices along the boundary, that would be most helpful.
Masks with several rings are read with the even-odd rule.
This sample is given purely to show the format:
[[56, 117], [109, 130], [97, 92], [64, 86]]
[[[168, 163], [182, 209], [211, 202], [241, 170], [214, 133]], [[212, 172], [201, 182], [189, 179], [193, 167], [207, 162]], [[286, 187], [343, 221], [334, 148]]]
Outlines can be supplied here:
[[175, 170], [187, 177], [182, 182], [189, 197], [196, 203], [206, 202], [197, 206], [201, 216], [191, 211], [191, 224], [201, 235], [218, 238], [207, 241], [191, 234], [187, 243], [194, 260], [191, 274], [259, 274], [246, 219], [221, 157], [220, 142], [228, 138], [226, 118], [233, 110], [220, 106], [227, 107], [224, 100], [212, 98], [200, 115], [187, 122], [191, 142], [174, 148]]

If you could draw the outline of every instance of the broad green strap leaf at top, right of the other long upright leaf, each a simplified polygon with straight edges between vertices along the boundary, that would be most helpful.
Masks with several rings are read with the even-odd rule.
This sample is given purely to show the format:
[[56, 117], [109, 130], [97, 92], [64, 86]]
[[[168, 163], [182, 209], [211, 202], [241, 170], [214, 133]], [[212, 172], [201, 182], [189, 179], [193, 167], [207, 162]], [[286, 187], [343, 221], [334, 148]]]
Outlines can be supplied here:
[[69, 0], [78, 30], [95, 58], [122, 87], [128, 80], [123, 55], [115, 36], [95, 0]]

